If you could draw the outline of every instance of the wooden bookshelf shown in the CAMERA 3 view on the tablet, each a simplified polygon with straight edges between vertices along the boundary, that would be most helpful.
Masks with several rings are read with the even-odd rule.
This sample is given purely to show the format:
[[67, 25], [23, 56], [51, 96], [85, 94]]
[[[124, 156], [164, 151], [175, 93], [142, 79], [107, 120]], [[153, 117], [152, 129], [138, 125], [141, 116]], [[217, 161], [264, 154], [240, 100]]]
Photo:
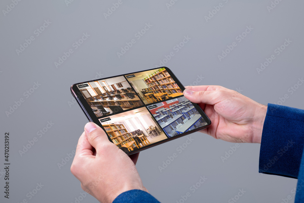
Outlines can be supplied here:
[[134, 141], [134, 139], [131, 137], [130, 133], [126, 130], [123, 124], [108, 124], [102, 126], [103, 128], [105, 128], [105, 131], [111, 138], [112, 142], [118, 147], [121, 147], [127, 142]]

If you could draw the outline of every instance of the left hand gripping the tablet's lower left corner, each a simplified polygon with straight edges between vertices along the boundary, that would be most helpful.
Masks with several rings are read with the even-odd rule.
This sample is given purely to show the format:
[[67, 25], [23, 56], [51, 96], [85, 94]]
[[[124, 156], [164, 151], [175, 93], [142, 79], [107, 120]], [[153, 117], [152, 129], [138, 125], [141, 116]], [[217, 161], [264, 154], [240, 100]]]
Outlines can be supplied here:
[[71, 172], [84, 191], [100, 202], [112, 202], [125, 191], [147, 192], [135, 167], [137, 158], [138, 153], [131, 160], [98, 125], [89, 122], [79, 138]]

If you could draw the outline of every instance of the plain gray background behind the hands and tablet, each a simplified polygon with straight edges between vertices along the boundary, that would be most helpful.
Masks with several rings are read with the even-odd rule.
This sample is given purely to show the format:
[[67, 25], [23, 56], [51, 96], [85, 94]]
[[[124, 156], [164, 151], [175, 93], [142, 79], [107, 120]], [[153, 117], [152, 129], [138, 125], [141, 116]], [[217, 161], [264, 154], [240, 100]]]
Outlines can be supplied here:
[[[169, 0], [123, 0], [105, 19], [103, 13], [116, 2], [21, 1], [6, 15], [1, 12], [0, 152], [4, 153], [4, 133], [9, 131], [11, 163], [9, 200], [3, 197], [5, 181], [0, 174], [1, 202], [75, 202], [82, 190], [70, 172], [72, 160], [61, 169], [57, 166], [75, 149], [87, 122], [73, 103], [70, 86], [155, 68], [184, 36], [191, 39], [165, 64], [184, 86], [200, 81], [199, 75], [204, 79], [198, 85], [225, 86], [263, 104], [277, 103], [288, 94], [283, 105], [304, 108], [304, 86], [293, 94], [288, 92], [304, 76], [303, 1], [282, 1], [268, 12], [270, 0], [179, 0], [169, 9]], [[206, 22], [204, 16], [221, 2], [223, 7]], [[10, 4], [12, 1], [3, 0], [0, 9]], [[44, 20], [51, 24], [36, 37], [34, 30]], [[137, 40], [134, 35], [145, 23], [152, 27]], [[235, 38], [246, 26], [254, 29], [239, 43]], [[72, 44], [83, 33], [90, 36], [74, 50]], [[16, 49], [31, 36], [35, 40], [18, 55]], [[288, 38], [292, 43], [258, 74], [256, 68]], [[136, 44], [118, 58], [117, 52], [132, 39]], [[219, 61], [218, 55], [233, 42], [237, 47]], [[74, 53], [56, 68], [54, 62], [70, 48]], [[24, 92], [37, 81], [41, 85], [26, 98]], [[7, 117], [5, 111], [21, 98], [24, 102]], [[37, 131], [48, 121], [54, 125], [39, 138]], [[34, 137], [38, 141], [20, 156], [19, 150]], [[187, 137], [140, 152], [137, 170], [145, 187], [161, 202], [182, 202], [181, 195], [187, 192], [191, 196], [185, 202], [228, 202], [239, 189], [246, 192], [237, 202], [281, 202], [288, 195], [294, 201], [291, 190], [296, 180], [258, 173], [259, 144], [241, 144], [223, 163], [220, 157], [234, 143], [199, 132], [188, 137], [194, 141], [162, 172], [158, 166], [177, 152]], [[0, 160], [3, 166], [4, 157]], [[201, 176], [208, 179], [192, 193], [190, 187]], [[29, 200], [26, 194], [40, 182], [44, 186]], [[87, 195], [80, 202], [97, 201]]]

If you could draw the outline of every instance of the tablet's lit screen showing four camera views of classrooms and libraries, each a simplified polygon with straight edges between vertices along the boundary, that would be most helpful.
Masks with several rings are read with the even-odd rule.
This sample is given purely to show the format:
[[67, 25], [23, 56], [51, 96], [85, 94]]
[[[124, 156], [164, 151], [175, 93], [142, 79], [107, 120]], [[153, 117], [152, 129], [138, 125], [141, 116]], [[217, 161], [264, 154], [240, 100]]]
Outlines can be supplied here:
[[126, 153], [207, 124], [166, 68], [77, 86], [109, 138]]

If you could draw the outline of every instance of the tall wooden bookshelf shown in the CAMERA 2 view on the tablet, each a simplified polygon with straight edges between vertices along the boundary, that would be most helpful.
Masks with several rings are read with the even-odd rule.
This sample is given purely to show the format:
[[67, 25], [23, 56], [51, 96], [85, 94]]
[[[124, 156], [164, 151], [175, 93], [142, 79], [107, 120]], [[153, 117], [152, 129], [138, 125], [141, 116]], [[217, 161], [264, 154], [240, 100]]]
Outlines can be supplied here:
[[153, 75], [145, 78], [144, 81], [154, 94], [162, 93], [163, 90], [168, 94], [183, 92], [165, 68], [159, 69]]

